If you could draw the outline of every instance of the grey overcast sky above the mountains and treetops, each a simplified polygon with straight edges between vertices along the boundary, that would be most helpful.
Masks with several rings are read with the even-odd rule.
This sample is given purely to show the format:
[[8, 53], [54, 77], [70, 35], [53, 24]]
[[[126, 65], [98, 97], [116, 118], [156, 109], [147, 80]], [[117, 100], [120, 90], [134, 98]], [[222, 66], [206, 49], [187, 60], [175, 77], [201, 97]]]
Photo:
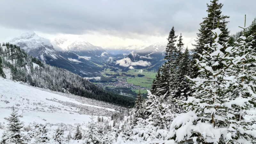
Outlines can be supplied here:
[[[0, 41], [33, 30], [47, 39], [82, 35], [97, 46], [165, 41], [172, 26], [191, 47], [210, 0], [1, 0]], [[231, 33], [256, 17], [256, 0], [220, 0]]]

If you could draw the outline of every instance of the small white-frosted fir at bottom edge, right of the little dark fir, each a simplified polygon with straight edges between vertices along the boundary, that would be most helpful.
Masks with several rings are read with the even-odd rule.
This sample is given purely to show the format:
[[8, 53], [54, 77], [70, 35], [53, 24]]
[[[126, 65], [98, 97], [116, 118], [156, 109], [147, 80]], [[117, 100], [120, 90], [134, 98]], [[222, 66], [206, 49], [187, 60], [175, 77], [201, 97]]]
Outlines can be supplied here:
[[101, 144], [101, 137], [98, 134], [98, 129], [97, 129], [97, 125], [94, 122], [95, 117], [92, 115], [90, 117], [91, 122], [89, 122], [87, 128], [87, 132], [85, 133], [85, 139], [83, 140], [83, 144]]

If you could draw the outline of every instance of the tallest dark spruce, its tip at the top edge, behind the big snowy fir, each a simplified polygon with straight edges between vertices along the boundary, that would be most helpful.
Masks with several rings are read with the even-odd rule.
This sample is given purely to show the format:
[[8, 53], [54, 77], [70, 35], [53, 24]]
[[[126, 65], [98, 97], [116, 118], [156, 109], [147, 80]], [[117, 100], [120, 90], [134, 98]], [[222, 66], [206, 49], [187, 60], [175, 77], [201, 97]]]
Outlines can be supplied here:
[[[212, 46], [212, 32], [211, 30], [217, 28], [217, 26], [220, 28], [220, 30], [223, 32], [222, 35], [219, 38], [219, 43], [223, 44], [228, 40], [229, 37], [229, 31], [227, 27], [227, 24], [229, 21], [226, 21], [226, 19], [229, 18], [229, 16], [221, 15], [221, 8], [223, 4], [218, 3], [218, 0], [212, 0], [210, 4], [207, 5], [206, 12], [208, 13], [208, 16], [203, 18], [203, 22], [200, 23], [200, 29], [199, 33], [197, 33], [197, 38], [195, 40], [196, 44], [193, 44], [195, 46], [195, 49], [192, 51], [194, 54], [192, 55], [194, 62], [193, 65], [196, 64], [195, 60], [199, 59], [199, 54], [203, 53], [203, 50], [206, 50], [204, 47], [204, 44], [210, 44]], [[196, 65], [193, 67], [193, 77], [196, 78], [198, 76], [198, 68]]]

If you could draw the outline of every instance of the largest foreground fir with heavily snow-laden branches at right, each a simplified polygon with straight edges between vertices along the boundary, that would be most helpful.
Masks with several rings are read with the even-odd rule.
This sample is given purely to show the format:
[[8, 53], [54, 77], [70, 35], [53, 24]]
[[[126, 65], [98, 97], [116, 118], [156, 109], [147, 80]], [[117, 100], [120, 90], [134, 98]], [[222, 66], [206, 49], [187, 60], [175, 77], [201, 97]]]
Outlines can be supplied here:
[[[241, 86], [241, 79], [245, 76], [238, 76], [240, 85], [237, 85], [236, 76], [232, 74], [236, 73], [236, 65], [243, 63], [248, 53], [241, 57], [235, 47], [227, 48], [227, 43], [223, 46], [219, 44], [222, 34], [219, 28], [212, 30], [212, 33], [212, 47], [206, 44], [207, 51], [203, 50], [203, 55], [199, 54], [202, 60], [197, 60], [199, 72], [205, 77], [188, 77], [194, 83], [196, 92], [183, 102], [188, 112], [173, 120], [170, 137], [177, 143], [255, 143], [256, 132], [252, 127], [255, 120], [244, 120], [239, 114], [255, 106], [256, 94], [247, 91], [247, 96], [234, 97], [231, 93], [236, 90], [236, 86]], [[241, 44], [241, 49], [248, 46], [244, 45]], [[225, 53], [221, 51], [222, 48], [226, 48]], [[252, 81], [249, 85], [252, 85]], [[251, 87], [247, 84], [247, 88], [250, 90]]]

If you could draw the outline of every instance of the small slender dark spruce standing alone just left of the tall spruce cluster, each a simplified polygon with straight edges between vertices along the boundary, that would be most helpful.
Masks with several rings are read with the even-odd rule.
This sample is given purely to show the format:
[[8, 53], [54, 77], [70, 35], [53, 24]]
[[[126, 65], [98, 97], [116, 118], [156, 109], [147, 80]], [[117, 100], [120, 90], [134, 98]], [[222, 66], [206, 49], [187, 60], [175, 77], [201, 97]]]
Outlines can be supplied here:
[[138, 118], [144, 118], [144, 102], [140, 90], [135, 101], [133, 125], [137, 124]]

